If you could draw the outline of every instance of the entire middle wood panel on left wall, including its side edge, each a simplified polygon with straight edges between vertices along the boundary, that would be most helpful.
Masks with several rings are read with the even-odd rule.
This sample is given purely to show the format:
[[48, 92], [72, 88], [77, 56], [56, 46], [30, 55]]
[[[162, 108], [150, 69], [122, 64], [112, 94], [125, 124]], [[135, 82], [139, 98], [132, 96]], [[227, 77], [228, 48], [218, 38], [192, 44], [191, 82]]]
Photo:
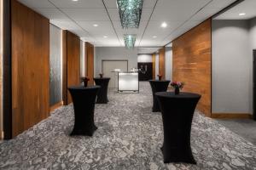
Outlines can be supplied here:
[[62, 32], [63, 105], [72, 103], [67, 88], [80, 84], [80, 38], [70, 31]]

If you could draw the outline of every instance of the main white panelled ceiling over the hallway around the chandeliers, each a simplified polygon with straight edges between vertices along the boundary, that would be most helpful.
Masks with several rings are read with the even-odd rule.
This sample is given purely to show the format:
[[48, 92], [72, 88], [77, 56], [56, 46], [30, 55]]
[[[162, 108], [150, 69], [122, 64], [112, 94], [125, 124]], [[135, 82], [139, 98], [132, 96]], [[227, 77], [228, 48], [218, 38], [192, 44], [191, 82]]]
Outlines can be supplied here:
[[[82, 40], [98, 47], [124, 46], [123, 35], [126, 33], [137, 34], [137, 47], [158, 47], [236, 0], [144, 0], [139, 28], [126, 30], [121, 28], [116, 0], [19, 1], [49, 18], [55, 26], [73, 31]], [[167, 27], [161, 28], [160, 24], [164, 21]], [[93, 24], [99, 26], [94, 27]]]

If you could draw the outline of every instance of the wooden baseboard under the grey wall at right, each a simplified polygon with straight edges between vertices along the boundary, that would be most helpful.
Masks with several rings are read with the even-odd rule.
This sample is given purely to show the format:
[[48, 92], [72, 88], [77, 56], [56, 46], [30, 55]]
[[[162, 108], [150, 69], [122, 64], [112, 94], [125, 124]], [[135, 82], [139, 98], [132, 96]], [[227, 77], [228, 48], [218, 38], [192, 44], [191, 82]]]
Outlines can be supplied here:
[[252, 119], [253, 115], [249, 113], [212, 113], [211, 117], [217, 119]]

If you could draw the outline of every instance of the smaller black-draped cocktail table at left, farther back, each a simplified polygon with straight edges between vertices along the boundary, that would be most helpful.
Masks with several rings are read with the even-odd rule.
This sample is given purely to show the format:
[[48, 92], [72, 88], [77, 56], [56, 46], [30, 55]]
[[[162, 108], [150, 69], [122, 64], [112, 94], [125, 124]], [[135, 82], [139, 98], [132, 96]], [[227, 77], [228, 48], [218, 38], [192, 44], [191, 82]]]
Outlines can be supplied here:
[[107, 104], [108, 103], [108, 82], [110, 78], [102, 77], [102, 78], [94, 78], [94, 82], [96, 85], [101, 86], [97, 94], [96, 104]]

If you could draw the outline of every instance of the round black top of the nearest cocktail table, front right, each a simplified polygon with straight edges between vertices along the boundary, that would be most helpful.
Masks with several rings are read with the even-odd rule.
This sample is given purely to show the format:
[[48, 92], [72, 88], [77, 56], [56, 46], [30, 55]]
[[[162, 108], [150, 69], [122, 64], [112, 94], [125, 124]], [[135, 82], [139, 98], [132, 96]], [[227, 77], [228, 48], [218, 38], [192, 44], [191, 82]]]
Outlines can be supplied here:
[[164, 97], [164, 98], [177, 98], [177, 99], [195, 99], [201, 98], [200, 94], [193, 94], [188, 92], [180, 92], [179, 94], [174, 94], [174, 92], [157, 92], [156, 96]]

